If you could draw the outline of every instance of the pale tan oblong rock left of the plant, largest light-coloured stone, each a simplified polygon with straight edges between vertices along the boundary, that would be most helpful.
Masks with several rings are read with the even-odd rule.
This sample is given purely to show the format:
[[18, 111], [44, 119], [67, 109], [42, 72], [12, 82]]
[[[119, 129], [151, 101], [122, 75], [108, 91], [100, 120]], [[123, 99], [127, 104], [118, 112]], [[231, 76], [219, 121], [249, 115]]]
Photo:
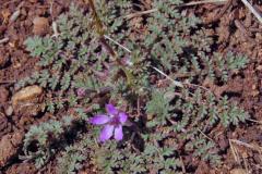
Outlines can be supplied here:
[[17, 91], [12, 97], [12, 104], [15, 108], [20, 102], [26, 102], [31, 99], [37, 98], [43, 94], [43, 88], [36, 85], [27, 86]]

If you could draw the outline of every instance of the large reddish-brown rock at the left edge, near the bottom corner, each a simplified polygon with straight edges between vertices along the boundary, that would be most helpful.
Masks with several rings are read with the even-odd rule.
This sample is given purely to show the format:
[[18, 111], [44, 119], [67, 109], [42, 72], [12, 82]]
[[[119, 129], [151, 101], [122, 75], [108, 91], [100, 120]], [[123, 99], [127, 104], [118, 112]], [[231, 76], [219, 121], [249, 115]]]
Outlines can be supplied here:
[[23, 135], [17, 132], [2, 137], [0, 141], [0, 167], [7, 165], [8, 161], [16, 154], [19, 147], [23, 142]]

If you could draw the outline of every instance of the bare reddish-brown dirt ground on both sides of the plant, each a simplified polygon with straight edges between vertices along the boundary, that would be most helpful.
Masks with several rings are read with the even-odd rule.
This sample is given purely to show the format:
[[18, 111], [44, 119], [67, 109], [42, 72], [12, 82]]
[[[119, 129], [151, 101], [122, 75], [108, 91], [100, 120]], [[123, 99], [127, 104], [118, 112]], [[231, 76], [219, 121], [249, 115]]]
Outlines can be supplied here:
[[[34, 35], [51, 35], [52, 21], [68, 11], [70, 0], [0, 0], [0, 173], [53, 173], [53, 161], [37, 171], [34, 164], [19, 159], [25, 132], [50, 115], [26, 116], [13, 111], [10, 104], [15, 82], [38, 69], [37, 59], [31, 58], [25, 50], [24, 40]], [[255, 8], [262, 12], [262, 4], [257, 3]], [[240, 127], [228, 130], [227, 136], [221, 134], [225, 132], [222, 127], [214, 130], [214, 141], [223, 149], [221, 156], [226, 161], [219, 169], [194, 161], [198, 164], [195, 173], [262, 173], [262, 24], [240, 0], [193, 5], [188, 10], [203, 20], [206, 30], [216, 38], [218, 51], [235, 48], [250, 59], [248, 67], [238, 72], [239, 75], [227, 85], [211, 88], [230, 96], [252, 117]]]

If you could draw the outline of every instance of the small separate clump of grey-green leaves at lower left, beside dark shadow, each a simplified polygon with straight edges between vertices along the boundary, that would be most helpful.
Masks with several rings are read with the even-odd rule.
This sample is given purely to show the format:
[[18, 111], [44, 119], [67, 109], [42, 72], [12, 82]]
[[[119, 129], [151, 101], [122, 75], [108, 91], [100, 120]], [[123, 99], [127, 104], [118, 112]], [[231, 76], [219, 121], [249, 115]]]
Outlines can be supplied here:
[[62, 121], [49, 121], [40, 125], [33, 125], [25, 135], [24, 156], [21, 158], [34, 160], [36, 167], [41, 167], [56, 153], [58, 145], [66, 141], [64, 136], [73, 126], [71, 116], [66, 116]]

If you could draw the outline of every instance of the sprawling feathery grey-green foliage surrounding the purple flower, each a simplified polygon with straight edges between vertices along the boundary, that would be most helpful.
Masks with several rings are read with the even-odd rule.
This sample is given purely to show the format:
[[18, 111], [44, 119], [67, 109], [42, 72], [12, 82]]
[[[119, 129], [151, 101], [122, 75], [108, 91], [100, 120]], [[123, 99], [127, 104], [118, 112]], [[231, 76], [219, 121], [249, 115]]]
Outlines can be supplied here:
[[[93, 115], [105, 113], [105, 100], [128, 105], [124, 112], [131, 117], [134, 111], [139, 113], [135, 119], [130, 117], [133, 126], [124, 128], [121, 142], [98, 144], [99, 128], [88, 125], [88, 130], [78, 136], [73, 145], [63, 144], [59, 173], [73, 173], [83, 165], [105, 174], [174, 173], [190, 165], [184, 166], [184, 156], [212, 165], [221, 163], [219, 148], [206, 135], [217, 125], [238, 126], [248, 114], [229, 102], [227, 96], [215, 96], [201, 85], [206, 79], [227, 83], [233, 73], [246, 66], [248, 59], [233, 51], [214, 53], [214, 38], [206, 36], [198, 17], [181, 13], [177, 8], [180, 3], [153, 0], [151, 8], [156, 11], [141, 16], [143, 34], [124, 18], [134, 9], [131, 1], [95, 1], [95, 9], [88, 11], [71, 5], [57, 21], [58, 37], [25, 41], [32, 55], [40, 58], [41, 70], [16, 87], [38, 84], [46, 88], [47, 111], [78, 108], [79, 121], [86, 125], [91, 114], [84, 109]], [[132, 51], [109, 42], [105, 36]], [[182, 86], [163, 79], [152, 67]], [[83, 96], [78, 96], [79, 88], [85, 90]], [[138, 101], [140, 108], [134, 104]], [[43, 166], [55, 151], [62, 149], [53, 145], [64, 132], [67, 127], [60, 121], [33, 126], [24, 140], [26, 158]], [[35, 140], [37, 152], [28, 152]]]

